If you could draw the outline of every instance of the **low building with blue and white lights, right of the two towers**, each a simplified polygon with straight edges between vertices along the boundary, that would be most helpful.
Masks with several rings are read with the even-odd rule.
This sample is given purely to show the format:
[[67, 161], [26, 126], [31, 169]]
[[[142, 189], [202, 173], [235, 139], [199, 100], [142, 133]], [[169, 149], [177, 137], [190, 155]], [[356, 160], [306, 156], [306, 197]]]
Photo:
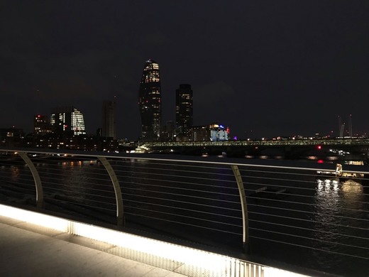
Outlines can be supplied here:
[[228, 141], [229, 129], [220, 124], [192, 126], [188, 134], [189, 141]]

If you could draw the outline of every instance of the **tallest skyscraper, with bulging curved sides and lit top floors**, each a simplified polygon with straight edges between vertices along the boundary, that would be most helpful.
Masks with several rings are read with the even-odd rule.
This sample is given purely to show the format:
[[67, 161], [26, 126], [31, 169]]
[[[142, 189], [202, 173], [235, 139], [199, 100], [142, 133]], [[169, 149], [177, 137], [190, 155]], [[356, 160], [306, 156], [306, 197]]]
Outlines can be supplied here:
[[147, 60], [143, 67], [138, 105], [141, 112], [143, 141], [158, 141], [161, 121], [161, 85], [158, 63]]

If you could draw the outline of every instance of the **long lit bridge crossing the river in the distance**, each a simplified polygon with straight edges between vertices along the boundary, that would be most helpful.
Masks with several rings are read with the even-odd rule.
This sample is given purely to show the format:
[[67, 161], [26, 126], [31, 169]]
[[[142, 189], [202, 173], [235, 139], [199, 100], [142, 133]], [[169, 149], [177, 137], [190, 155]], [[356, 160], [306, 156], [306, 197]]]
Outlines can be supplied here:
[[138, 151], [192, 155], [226, 155], [231, 157], [275, 156], [306, 158], [308, 156], [367, 160], [368, 138], [275, 139], [258, 141], [167, 141], [144, 142]]

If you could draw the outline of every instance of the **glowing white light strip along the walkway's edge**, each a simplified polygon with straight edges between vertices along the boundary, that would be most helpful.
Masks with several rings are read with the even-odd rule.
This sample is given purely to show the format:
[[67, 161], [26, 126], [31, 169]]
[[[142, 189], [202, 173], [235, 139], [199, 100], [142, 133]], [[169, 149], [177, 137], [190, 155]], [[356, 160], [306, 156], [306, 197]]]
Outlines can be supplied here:
[[[41, 227], [55, 229], [60, 232], [75, 234], [81, 237], [121, 246], [124, 249], [131, 249], [163, 259], [170, 259], [171, 261], [177, 261], [185, 266], [202, 268], [205, 271], [211, 271], [211, 273], [214, 273], [214, 276], [303, 276], [277, 268], [251, 264], [228, 256], [170, 244], [165, 241], [148, 239], [134, 234], [75, 222], [69, 219], [53, 217], [48, 214], [22, 210], [16, 207], [0, 205], [0, 215], [22, 222], [37, 224]], [[244, 272], [241, 275], [240, 268], [243, 268], [241, 271]], [[248, 270], [245, 268], [248, 268]], [[245, 271], [248, 271], [248, 273]]]

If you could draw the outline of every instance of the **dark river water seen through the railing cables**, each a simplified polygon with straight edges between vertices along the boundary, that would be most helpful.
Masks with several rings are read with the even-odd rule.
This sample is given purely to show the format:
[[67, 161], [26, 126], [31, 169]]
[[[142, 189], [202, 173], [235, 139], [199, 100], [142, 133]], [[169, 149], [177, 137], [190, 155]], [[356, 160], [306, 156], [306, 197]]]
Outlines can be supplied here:
[[[133, 159], [112, 164], [121, 185], [126, 226], [241, 253], [241, 205], [228, 166]], [[34, 195], [26, 166], [0, 165], [3, 199]], [[94, 214], [94, 219], [114, 222], [114, 189], [103, 165], [75, 159], [38, 160], [35, 165], [48, 207], [59, 203], [59, 212], [85, 218]], [[365, 184], [316, 178], [306, 170], [240, 170], [248, 202], [250, 254], [256, 261], [263, 257], [340, 276], [369, 276]]]

